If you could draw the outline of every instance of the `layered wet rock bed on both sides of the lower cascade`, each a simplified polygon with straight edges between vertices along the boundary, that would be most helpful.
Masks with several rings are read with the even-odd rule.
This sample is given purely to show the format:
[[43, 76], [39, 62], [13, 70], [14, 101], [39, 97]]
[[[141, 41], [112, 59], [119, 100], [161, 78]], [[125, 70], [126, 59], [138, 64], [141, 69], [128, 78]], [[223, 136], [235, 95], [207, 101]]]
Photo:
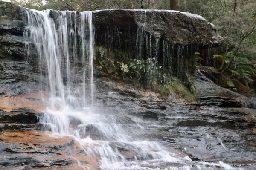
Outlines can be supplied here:
[[[196, 83], [204, 86], [198, 86], [196, 102], [180, 100], [175, 95], [169, 100], [160, 100], [154, 92], [134, 89], [102, 74], [97, 74], [94, 83], [97, 86], [95, 104], [102, 106], [97, 107], [98, 112], [114, 116], [126, 127], [128, 135], [134, 135], [135, 125], [139, 124], [142, 128], [138, 138], [160, 142], [183, 157], [189, 156], [192, 161], [187, 164], [222, 161], [248, 170], [256, 167], [254, 101], [215, 86], [200, 73]], [[204, 90], [210, 92], [209, 88], [212, 93], [208, 96]], [[20, 95], [13, 96], [12, 101], [15, 98], [24, 101], [27, 96], [23, 95], [23, 99]], [[6, 97], [0, 98], [5, 100]], [[33, 106], [38, 98], [29, 96], [29, 100]], [[1, 102], [0, 108], [4, 110], [3, 104]], [[242, 107], [244, 104], [247, 107]], [[41, 131], [39, 119], [43, 113], [40, 109], [30, 109], [26, 102], [25, 108], [19, 106], [12, 111], [1, 110], [2, 169], [81, 169], [78, 162], [97, 169], [97, 158], [84, 155], [73, 138]], [[95, 127], [90, 128], [94, 128], [91, 136], [97, 139], [99, 133]], [[120, 151], [129, 159], [134, 156], [125, 148], [120, 147]], [[167, 165], [156, 167], [161, 166]]]

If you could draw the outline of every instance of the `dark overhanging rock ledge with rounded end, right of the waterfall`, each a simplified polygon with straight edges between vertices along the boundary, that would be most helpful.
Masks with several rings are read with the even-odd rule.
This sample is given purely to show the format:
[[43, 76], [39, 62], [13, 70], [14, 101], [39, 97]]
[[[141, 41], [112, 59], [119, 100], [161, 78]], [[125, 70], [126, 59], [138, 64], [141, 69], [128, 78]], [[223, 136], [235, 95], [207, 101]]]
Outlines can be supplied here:
[[[154, 37], [161, 37], [174, 44], [219, 44], [222, 42], [215, 26], [203, 17], [167, 10], [114, 9], [93, 12], [96, 34], [106, 26], [121, 30], [137, 27]], [[99, 33], [100, 34], [100, 33]]]

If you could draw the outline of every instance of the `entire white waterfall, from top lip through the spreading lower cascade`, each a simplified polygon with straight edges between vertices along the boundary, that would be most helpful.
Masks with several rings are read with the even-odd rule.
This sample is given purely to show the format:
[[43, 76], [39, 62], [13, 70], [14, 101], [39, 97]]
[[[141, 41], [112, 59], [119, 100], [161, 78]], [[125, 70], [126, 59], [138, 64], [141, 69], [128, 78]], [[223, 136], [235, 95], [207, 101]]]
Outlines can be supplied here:
[[[135, 139], [113, 116], [97, 112], [93, 107], [91, 12], [31, 10], [27, 16], [26, 44], [29, 50], [37, 51], [41, 90], [50, 94], [49, 107], [41, 119], [44, 130], [72, 136], [84, 149], [84, 155], [96, 156], [104, 170], [201, 170], [215, 166], [233, 169], [222, 162], [196, 162], [192, 166], [188, 156], [182, 158], [157, 142]], [[135, 125], [134, 134], [140, 133], [140, 129], [143, 127]], [[120, 148], [133, 157], [128, 158]]]

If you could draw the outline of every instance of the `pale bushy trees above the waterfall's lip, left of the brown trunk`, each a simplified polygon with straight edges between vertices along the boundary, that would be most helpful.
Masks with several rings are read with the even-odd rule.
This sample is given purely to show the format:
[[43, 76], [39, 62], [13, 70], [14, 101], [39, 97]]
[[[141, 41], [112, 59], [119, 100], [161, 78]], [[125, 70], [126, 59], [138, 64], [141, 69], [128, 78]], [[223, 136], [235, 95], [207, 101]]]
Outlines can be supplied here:
[[[175, 0], [176, 3], [179, 0]], [[101, 9], [169, 9], [169, 0], [11, 0], [26, 8], [93, 11]], [[177, 8], [178, 5], [176, 5]]]

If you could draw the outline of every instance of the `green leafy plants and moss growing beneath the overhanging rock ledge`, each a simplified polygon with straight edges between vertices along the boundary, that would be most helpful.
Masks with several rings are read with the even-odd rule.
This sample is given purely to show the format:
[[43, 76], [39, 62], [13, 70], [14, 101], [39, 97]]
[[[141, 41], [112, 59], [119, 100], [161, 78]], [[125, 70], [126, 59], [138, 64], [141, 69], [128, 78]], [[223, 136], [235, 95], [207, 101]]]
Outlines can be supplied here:
[[[189, 101], [195, 100], [195, 85], [190, 79], [189, 74], [186, 86], [177, 77], [165, 73], [156, 58], [148, 59], [130, 59], [128, 63], [114, 61], [116, 53], [98, 47], [99, 69], [111, 75], [122, 76], [125, 81], [132, 81], [136, 84], [144, 85], [159, 93], [159, 97], [166, 99], [171, 94], [175, 94], [178, 98], [186, 98]], [[119, 58], [120, 59], [120, 58]]]

